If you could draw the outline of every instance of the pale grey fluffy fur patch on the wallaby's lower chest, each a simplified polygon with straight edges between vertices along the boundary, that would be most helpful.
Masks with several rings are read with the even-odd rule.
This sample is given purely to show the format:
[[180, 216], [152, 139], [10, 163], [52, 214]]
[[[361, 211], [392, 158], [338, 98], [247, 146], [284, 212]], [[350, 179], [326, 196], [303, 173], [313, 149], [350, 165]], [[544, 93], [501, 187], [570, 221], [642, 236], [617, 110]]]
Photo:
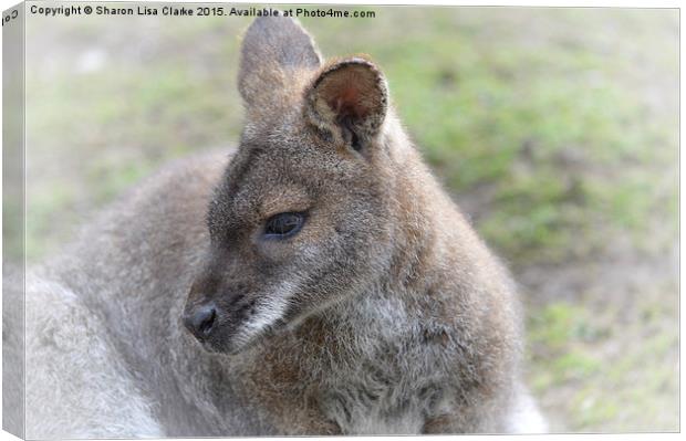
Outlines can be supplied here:
[[[356, 356], [329, 376], [321, 410], [343, 433], [422, 433], [427, 418], [446, 411], [449, 379], [425, 346], [418, 317], [385, 293], [368, 293], [345, 318], [366, 329]], [[414, 360], [422, 358], [424, 363]]]

